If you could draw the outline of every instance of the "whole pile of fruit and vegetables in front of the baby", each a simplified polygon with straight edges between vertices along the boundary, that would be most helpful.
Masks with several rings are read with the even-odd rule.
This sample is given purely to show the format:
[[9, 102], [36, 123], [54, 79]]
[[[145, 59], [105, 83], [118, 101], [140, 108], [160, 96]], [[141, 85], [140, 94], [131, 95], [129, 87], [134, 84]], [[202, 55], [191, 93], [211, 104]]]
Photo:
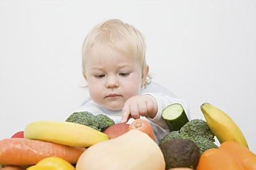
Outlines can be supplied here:
[[229, 115], [209, 103], [201, 111], [205, 120], [189, 121], [181, 105], [167, 106], [170, 132], [159, 144], [145, 119], [115, 124], [84, 111], [64, 122], [31, 122], [0, 140], [0, 169], [256, 170], [256, 155]]

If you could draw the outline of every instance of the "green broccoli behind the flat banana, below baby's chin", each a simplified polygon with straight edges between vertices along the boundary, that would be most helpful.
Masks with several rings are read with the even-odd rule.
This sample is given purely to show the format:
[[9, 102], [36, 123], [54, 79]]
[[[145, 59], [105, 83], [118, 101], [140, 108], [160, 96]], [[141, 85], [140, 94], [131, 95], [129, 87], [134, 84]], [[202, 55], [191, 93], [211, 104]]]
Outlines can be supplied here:
[[107, 115], [99, 114], [95, 116], [88, 111], [75, 112], [66, 119], [66, 122], [79, 123], [101, 132], [115, 124]]

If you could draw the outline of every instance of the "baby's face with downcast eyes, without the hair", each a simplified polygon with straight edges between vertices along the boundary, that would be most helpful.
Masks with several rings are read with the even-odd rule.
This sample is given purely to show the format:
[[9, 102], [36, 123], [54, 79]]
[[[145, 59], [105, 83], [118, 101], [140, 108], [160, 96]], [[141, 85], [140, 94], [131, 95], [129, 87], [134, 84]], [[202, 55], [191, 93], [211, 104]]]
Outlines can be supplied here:
[[94, 45], [87, 56], [88, 90], [98, 105], [121, 110], [128, 98], [139, 94], [145, 83], [139, 61], [103, 45]]

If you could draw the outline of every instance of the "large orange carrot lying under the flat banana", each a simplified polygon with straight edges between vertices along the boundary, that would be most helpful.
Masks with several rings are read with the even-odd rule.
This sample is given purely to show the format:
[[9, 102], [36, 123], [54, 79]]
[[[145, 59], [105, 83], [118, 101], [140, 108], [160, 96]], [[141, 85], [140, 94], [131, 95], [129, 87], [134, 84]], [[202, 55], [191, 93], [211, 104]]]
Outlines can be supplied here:
[[10, 138], [0, 140], [0, 163], [7, 165], [36, 164], [38, 161], [58, 156], [73, 164], [86, 150], [82, 147], [64, 146], [40, 140]]

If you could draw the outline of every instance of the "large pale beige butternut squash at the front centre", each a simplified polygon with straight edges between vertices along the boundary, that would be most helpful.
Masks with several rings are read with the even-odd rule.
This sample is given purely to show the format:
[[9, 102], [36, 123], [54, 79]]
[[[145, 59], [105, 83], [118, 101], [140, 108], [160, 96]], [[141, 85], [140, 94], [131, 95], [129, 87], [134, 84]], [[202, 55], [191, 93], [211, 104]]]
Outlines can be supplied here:
[[144, 132], [130, 130], [94, 144], [79, 157], [76, 170], [164, 170], [164, 155]]

